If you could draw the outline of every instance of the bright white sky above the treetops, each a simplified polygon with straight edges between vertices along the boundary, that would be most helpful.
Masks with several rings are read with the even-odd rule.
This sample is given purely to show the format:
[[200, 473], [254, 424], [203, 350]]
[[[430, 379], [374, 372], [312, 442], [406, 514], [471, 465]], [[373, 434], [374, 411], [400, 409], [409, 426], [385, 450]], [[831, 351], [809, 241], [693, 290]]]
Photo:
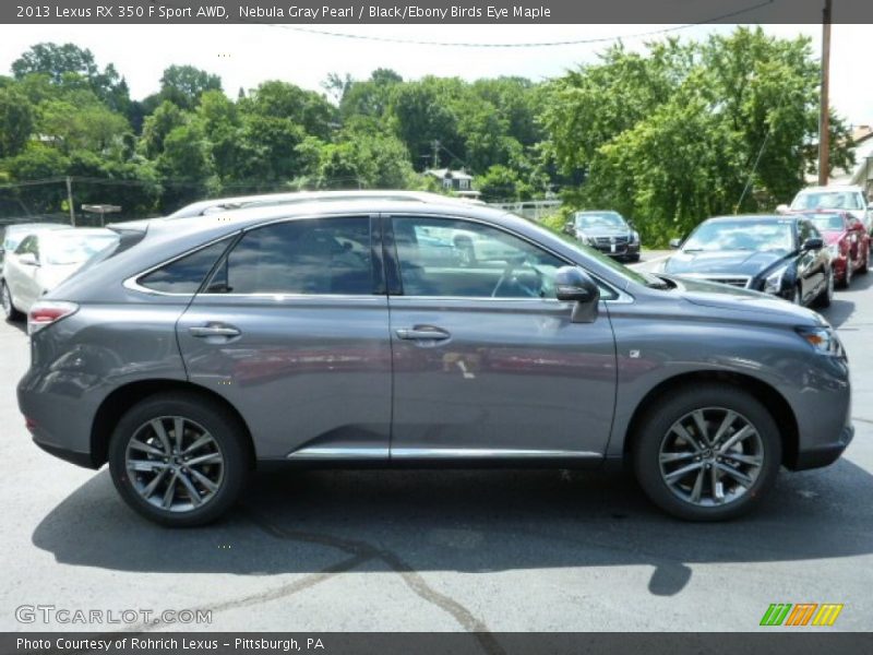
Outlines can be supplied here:
[[[31, 46], [41, 41], [74, 43], [94, 52], [97, 63], [109, 62], [127, 78], [131, 96], [143, 98], [158, 90], [170, 64], [191, 64], [220, 75], [224, 90], [236, 97], [240, 87], [279, 79], [321, 90], [328, 73], [366, 79], [376, 68], [391, 68], [404, 79], [422, 75], [466, 80], [521, 75], [542, 80], [596, 60], [612, 37], [639, 50], [646, 40], [662, 38], [657, 31], [675, 25], [311, 25], [307, 29], [408, 40], [518, 44], [567, 39], [608, 39], [584, 45], [543, 48], [464, 48], [337, 38], [294, 28], [294, 25], [17, 25], [4, 28], [0, 40], [0, 73]], [[730, 32], [732, 25], [704, 25], [671, 34], [705, 38]], [[821, 49], [820, 25], [764, 25], [776, 36], [806, 35], [814, 52]], [[873, 124], [871, 25], [832, 27], [832, 105], [851, 124]], [[648, 36], [635, 36], [648, 33]]]

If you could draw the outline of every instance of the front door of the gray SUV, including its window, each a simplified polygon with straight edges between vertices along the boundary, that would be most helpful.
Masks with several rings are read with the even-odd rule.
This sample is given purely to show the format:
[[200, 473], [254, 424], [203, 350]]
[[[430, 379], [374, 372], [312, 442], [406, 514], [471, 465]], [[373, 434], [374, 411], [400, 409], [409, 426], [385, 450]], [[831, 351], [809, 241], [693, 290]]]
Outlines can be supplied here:
[[601, 303], [571, 322], [567, 262], [475, 221], [386, 219], [394, 360], [392, 460], [599, 460], [615, 400]]

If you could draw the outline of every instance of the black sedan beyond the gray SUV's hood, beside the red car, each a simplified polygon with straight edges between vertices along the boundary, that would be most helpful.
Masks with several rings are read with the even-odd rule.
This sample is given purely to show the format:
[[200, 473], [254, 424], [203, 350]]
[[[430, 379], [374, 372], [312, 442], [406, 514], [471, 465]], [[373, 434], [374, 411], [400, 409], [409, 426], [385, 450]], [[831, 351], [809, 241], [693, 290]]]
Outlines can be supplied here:
[[663, 273], [764, 291], [796, 305], [827, 307], [834, 296], [830, 254], [804, 216], [709, 218], [669, 258]]

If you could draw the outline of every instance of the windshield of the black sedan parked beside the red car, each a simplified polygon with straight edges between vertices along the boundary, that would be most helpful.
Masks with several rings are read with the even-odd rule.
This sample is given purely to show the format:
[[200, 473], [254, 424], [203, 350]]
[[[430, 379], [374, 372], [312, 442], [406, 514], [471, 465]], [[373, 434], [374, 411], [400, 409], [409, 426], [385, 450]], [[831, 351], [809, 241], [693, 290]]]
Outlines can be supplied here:
[[695, 229], [682, 247], [684, 252], [751, 250], [784, 252], [794, 250], [793, 219], [707, 221]]

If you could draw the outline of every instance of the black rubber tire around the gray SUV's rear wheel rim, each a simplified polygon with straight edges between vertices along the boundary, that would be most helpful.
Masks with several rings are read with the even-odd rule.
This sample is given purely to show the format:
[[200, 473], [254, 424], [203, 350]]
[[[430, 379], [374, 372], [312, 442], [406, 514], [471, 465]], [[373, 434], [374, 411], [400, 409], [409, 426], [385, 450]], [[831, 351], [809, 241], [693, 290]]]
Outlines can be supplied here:
[[[220, 480], [217, 489], [200, 507], [170, 511], [155, 507], [136, 490], [128, 473], [127, 456], [131, 440], [146, 424], [159, 417], [183, 417], [208, 432], [215, 449], [223, 457]], [[184, 430], [182, 430], [184, 433]], [[175, 439], [175, 437], [174, 437]], [[131, 407], [119, 420], [109, 441], [109, 471], [112, 483], [121, 498], [133, 510], [162, 525], [190, 527], [205, 525], [220, 517], [239, 499], [251, 469], [248, 437], [243, 426], [232, 412], [219, 403], [195, 393], [160, 393], [150, 396]], [[210, 444], [213, 448], [213, 444]], [[152, 456], [152, 455], [143, 455]], [[166, 460], [165, 460], [166, 461]], [[158, 461], [155, 463], [159, 465]], [[176, 477], [172, 477], [175, 480]], [[189, 477], [189, 480], [193, 479]], [[177, 487], [178, 488], [178, 487]], [[188, 495], [187, 491], [184, 491]], [[190, 495], [188, 495], [190, 498]]]

